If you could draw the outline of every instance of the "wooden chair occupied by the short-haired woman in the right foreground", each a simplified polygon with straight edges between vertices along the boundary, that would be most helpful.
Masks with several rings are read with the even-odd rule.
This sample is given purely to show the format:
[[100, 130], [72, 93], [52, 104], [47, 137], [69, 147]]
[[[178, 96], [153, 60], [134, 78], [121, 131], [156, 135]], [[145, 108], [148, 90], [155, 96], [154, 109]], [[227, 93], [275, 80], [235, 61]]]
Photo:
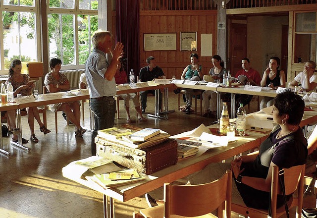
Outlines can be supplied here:
[[[289, 209], [297, 207], [296, 217], [301, 218], [302, 206], [303, 206], [303, 193], [304, 193], [304, 173], [305, 164], [293, 166], [291, 168], [284, 168], [284, 180], [285, 180], [285, 194], [289, 195], [297, 190], [297, 197], [293, 196], [287, 203]], [[280, 190], [280, 184], [278, 181], [278, 167], [273, 167], [272, 182], [271, 182], [271, 206], [272, 206], [272, 218], [278, 218], [285, 214], [284, 205], [276, 209], [277, 193], [282, 194]], [[238, 214], [241, 214], [250, 218], [267, 218], [267, 210], [258, 210], [253, 208], [244, 207], [241, 205], [231, 204], [231, 210]], [[292, 216], [290, 216], [292, 217]]]

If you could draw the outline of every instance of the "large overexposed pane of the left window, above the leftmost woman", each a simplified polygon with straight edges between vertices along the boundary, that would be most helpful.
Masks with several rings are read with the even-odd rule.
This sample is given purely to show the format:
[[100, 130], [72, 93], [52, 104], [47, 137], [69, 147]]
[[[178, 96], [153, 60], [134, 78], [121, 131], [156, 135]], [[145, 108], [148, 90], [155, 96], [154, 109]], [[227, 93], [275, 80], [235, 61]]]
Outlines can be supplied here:
[[35, 13], [2, 12], [5, 69], [12, 59], [37, 61]]

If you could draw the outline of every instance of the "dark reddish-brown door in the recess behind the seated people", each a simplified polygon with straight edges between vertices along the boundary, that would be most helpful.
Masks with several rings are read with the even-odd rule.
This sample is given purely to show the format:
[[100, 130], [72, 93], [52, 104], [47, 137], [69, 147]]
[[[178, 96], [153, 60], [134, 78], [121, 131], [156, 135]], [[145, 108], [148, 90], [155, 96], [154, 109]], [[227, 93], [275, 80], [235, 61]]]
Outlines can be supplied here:
[[229, 33], [229, 57], [232, 76], [242, 69], [241, 60], [247, 57], [247, 21], [239, 20], [238, 23], [235, 22], [235, 20], [231, 20]]

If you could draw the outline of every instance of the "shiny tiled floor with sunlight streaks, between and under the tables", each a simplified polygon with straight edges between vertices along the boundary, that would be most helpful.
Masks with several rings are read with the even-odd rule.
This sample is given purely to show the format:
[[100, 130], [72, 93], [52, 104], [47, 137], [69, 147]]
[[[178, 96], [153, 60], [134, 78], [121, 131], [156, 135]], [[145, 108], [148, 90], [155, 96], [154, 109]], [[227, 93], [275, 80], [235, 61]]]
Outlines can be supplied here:
[[[149, 97], [148, 102], [147, 111], [153, 112], [154, 97]], [[147, 122], [138, 121], [132, 115], [135, 114], [132, 108], [133, 125], [160, 128], [171, 135], [191, 130], [201, 123], [209, 125], [214, 120], [200, 114], [186, 115], [178, 111], [177, 96], [173, 92], [169, 93], [169, 109], [176, 109], [176, 112], [170, 113], [167, 120], [149, 117]], [[116, 119], [115, 123], [126, 123], [123, 101], [120, 101], [120, 115], [121, 118]], [[85, 126], [88, 126], [87, 103], [85, 117]], [[30, 152], [9, 145], [9, 138], [3, 138], [4, 149], [11, 156], [0, 155], [0, 218], [103, 218], [103, 196], [61, 174], [63, 166], [91, 155], [91, 133], [86, 132], [83, 138], [75, 138], [74, 126], [67, 126], [61, 113], [58, 118], [57, 134], [52, 112], [48, 113], [51, 133], [44, 135], [36, 126], [40, 142], [25, 144]], [[30, 132], [26, 117], [22, 118], [22, 123], [23, 137], [28, 138]], [[151, 194], [162, 198], [162, 188]], [[133, 211], [146, 207], [144, 196], [126, 203], [115, 201], [115, 216], [131, 218]]]

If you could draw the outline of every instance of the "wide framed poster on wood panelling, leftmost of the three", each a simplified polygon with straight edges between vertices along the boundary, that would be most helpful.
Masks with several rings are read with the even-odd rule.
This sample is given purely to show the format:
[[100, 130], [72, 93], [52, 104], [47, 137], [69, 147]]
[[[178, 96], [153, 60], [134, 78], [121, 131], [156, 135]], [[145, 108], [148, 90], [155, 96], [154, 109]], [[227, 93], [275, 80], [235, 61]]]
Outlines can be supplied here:
[[176, 33], [145, 33], [144, 51], [176, 50]]

